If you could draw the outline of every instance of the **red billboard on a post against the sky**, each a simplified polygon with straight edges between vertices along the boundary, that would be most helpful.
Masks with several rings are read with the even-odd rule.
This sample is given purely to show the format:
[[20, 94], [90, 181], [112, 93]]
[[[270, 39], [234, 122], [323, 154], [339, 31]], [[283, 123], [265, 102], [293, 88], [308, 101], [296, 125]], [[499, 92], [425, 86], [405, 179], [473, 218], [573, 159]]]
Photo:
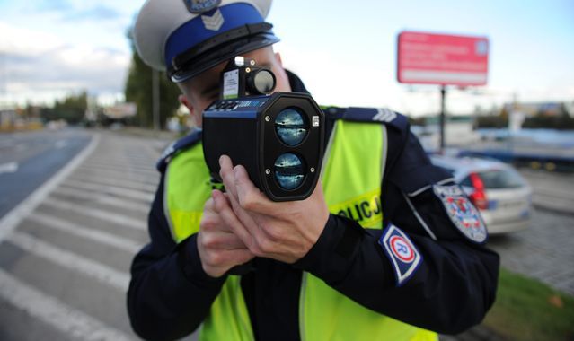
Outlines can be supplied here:
[[489, 39], [402, 31], [397, 48], [400, 83], [484, 85]]

